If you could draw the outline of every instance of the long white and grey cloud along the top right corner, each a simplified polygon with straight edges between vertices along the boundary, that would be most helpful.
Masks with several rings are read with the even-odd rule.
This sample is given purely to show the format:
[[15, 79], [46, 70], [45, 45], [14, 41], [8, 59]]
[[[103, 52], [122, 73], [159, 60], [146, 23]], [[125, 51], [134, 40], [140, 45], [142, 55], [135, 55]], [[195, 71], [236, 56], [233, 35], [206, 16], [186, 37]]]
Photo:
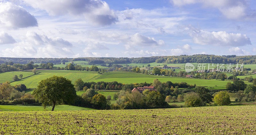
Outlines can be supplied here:
[[228, 19], [254, 18], [256, 13], [252, 10], [247, 0], [171, 0], [175, 6], [187, 4], [203, 4], [204, 7], [213, 7]]

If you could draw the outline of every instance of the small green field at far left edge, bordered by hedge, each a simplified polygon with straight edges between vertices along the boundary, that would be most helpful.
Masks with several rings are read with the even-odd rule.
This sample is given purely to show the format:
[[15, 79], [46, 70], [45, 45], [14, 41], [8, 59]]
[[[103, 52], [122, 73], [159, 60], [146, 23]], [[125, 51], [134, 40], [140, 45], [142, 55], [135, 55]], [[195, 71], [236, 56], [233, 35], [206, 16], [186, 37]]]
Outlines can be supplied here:
[[32, 73], [32, 72], [22, 72], [22, 71], [13, 71], [13, 72], [0, 73], [0, 83], [6, 82], [6, 81], [11, 82], [12, 77], [14, 75], [17, 75], [19, 77], [20, 74], [23, 74], [23, 78], [24, 78], [24, 77], [28, 77], [30, 75], [33, 75], [34, 73]]

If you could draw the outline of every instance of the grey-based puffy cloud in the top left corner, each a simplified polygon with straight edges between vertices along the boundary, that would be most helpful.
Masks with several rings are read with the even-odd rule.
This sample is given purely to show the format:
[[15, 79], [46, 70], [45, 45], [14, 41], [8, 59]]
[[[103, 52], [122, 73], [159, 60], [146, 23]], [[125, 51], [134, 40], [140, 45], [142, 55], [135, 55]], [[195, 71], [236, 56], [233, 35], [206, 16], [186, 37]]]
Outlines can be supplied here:
[[24, 28], [37, 26], [36, 18], [26, 9], [10, 2], [0, 2], [0, 26], [10, 28]]

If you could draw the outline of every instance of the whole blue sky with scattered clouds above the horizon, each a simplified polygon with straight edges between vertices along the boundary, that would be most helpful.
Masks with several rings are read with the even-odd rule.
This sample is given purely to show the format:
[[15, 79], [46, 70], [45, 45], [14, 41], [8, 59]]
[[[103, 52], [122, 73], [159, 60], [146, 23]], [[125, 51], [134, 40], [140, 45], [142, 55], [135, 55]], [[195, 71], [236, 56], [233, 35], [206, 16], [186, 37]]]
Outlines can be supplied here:
[[255, 55], [254, 0], [0, 0], [0, 57]]

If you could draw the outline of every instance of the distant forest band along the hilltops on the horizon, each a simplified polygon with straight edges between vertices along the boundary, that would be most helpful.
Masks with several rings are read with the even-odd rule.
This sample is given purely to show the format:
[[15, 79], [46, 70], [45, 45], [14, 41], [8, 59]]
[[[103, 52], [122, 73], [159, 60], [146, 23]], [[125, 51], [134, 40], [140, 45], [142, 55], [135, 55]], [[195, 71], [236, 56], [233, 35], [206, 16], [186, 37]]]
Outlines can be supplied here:
[[11, 58], [0, 57], [0, 63], [12, 61], [13, 63], [28, 64], [33, 61], [34, 63], [62, 63], [71, 61], [87, 61], [90, 64], [125, 64], [125, 63], [221, 63], [221, 64], [256, 64], [256, 55], [252, 56], [236, 56], [236, 55], [180, 55], [180, 56], [152, 56], [152, 57], [81, 57], [81, 58]]

